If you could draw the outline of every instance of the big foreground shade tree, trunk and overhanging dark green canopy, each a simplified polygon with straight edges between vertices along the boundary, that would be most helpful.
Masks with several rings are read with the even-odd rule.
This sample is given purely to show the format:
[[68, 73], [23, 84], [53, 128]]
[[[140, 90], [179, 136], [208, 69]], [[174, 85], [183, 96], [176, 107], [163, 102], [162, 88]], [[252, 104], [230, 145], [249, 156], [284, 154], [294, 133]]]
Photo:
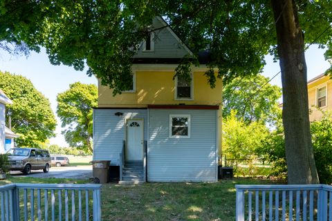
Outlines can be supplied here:
[[[159, 29], [149, 26], [156, 15], [167, 19], [195, 55], [210, 51], [205, 75], [212, 87], [217, 77], [229, 83], [256, 75], [270, 52], [282, 69], [288, 182], [308, 184], [317, 183], [318, 177], [308, 123], [304, 44], [332, 46], [331, 10], [328, 0], [4, 0], [0, 41], [24, 43], [37, 51], [44, 46], [52, 64], [82, 70], [86, 62], [88, 75], [100, 78], [114, 93], [129, 88], [131, 58], [148, 32], [158, 34]], [[326, 52], [326, 57], [331, 54]], [[193, 63], [187, 58], [181, 66]], [[190, 72], [178, 70], [188, 71], [176, 74]]]

